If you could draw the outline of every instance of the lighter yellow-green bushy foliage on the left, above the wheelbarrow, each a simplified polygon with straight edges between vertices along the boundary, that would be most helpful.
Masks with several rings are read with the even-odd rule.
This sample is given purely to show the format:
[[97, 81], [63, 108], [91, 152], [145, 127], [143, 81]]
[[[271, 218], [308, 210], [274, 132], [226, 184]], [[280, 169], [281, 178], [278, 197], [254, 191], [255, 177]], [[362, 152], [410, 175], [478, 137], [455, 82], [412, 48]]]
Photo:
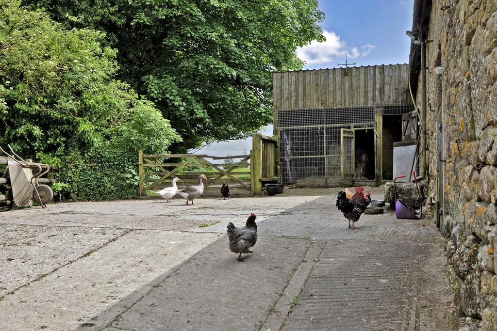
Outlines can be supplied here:
[[[136, 196], [137, 149], [166, 153], [180, 137], [155, 105], [113, 79], [104, 34], [66, 30], [40, 10], [0, 0], [0, 145], [61, 168], [78, 199]], [[76, 21], [76, 19], [70, 18]]]

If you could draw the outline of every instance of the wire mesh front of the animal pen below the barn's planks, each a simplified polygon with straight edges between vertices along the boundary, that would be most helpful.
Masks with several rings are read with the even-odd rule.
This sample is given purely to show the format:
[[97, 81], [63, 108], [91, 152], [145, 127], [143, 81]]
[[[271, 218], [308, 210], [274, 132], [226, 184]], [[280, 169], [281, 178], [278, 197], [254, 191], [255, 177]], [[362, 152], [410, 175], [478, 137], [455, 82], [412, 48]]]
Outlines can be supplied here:
[[[343, 183], [342, 172], [345, 180], [354, 177], [371, 180], [365, 177], [365, 173], [366, 164], [375, 161], [374, 151], [371, 156], [364, 148], [354, 148], [352, 130], [374, 132], [378, 110], [388, 116], [402, 115], [412, 109], [412, 105], [406, 103], [276, 110], [275, 126], [280, 135], [282, 183], [302, 187], [338, 185]], [[344, 134], [347, 130], [350, 133]], [[372, 133], [368, 137], [372, 141], [364, 143], [374, 145], [375, 135]], [[352, 172], [352, 169], [355, 171]]]

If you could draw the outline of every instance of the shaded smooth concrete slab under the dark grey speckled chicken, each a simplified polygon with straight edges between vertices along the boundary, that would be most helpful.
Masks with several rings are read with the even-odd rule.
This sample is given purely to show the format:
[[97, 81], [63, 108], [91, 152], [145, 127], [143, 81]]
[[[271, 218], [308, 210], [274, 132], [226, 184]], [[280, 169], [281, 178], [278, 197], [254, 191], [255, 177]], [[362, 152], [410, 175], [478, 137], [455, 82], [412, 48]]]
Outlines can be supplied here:
[[304, 239], [259, 237], [245, 262], [216, 241], [110, 327], [130, 330], [257, 330], [301, 264]]

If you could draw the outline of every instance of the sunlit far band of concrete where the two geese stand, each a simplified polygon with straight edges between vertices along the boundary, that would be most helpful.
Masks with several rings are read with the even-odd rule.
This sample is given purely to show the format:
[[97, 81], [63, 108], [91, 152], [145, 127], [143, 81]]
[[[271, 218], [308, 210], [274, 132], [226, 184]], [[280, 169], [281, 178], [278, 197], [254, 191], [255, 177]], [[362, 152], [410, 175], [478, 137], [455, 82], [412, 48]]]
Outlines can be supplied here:
[[199, 199], [194, 206], [178, 199], [171, 203], [165, 200], [58, 203], [47, 209], [35, 207], [0, 213], [0, 223], [188, 231], [203, 224], [247, 219], [251, 212], [262, 220], [315, 198]]

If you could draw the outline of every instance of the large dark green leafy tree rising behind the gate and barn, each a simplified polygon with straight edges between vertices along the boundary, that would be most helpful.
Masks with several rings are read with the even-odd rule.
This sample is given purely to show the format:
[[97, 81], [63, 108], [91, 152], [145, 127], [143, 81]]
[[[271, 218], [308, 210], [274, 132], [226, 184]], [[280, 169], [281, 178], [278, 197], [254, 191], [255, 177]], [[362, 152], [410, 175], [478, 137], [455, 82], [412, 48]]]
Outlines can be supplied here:
[[271, 71], [323, 40], [317, 0], [25, 0], [106, 34], [120, 77], [155, 102], [184, 141], [246, 137], [272, 121]]

